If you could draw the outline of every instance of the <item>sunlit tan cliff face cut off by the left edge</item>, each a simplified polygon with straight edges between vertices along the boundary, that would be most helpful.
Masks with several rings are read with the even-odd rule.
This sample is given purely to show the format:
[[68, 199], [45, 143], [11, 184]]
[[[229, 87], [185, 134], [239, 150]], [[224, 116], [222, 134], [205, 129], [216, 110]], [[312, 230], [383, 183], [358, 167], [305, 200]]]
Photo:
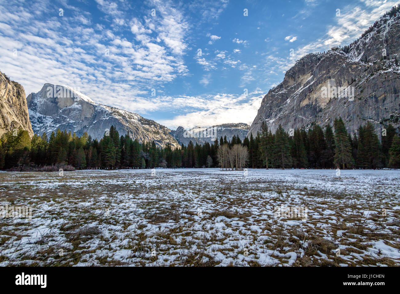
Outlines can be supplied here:
[[24, 87], [0, 72], [0, 137], [20, 127], [33, 136]]

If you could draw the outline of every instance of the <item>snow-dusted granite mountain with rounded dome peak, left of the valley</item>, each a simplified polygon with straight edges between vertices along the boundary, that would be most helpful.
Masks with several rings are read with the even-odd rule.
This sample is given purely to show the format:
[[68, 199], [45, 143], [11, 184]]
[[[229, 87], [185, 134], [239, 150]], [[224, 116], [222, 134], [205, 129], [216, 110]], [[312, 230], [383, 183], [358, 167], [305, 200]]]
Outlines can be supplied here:
[[93, 139], [100, 140], [111, 126], [116, 126], [120, 135], [128, 134], [139, 142], [154, 140], [160, 147], [167, 143], [173, 148], [179, 146], [167, 127], [136, 113], [96, 104], [68, 86], [44, 84], [38, 93], [29, 94], [26, 100], [33, 130], [38, 135], [46, 132], [50, 136], [59, 128], [78, 136], [87, 132]]

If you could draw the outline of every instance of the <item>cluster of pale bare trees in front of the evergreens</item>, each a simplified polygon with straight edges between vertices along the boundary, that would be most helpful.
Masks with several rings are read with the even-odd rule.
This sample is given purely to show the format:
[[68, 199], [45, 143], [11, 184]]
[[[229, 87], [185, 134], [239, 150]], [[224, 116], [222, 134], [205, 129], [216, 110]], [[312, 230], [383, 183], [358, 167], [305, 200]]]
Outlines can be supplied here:
[[235, 144], [232, 148], [223, 144], [218, 149], [218, 162], [222, 170], [243, 170], [248, 157], [247, 147], [240, 144]]

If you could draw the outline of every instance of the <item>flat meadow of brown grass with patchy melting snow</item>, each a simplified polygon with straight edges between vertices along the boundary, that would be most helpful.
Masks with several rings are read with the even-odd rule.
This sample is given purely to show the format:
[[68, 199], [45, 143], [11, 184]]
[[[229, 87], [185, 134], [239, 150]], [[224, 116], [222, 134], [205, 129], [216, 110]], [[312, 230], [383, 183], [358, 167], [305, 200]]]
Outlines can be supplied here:
[[400, 265], [399, 170], [1, 172], [6, 205], [0, 266]]

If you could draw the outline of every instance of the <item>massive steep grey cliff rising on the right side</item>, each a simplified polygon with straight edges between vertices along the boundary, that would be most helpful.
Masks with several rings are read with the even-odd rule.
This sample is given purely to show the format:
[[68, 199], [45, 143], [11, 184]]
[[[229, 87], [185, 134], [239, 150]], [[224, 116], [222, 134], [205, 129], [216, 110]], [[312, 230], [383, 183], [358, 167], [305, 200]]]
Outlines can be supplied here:
[[351, 134], [370, 121], [377, 132], [400, 122], [400, 13], [382, 16], [358, 40], [326, 53], [308, 54], [261, 102], [250, 132], [265, 121], [278, 126], [333, 125], [341, 116]]

